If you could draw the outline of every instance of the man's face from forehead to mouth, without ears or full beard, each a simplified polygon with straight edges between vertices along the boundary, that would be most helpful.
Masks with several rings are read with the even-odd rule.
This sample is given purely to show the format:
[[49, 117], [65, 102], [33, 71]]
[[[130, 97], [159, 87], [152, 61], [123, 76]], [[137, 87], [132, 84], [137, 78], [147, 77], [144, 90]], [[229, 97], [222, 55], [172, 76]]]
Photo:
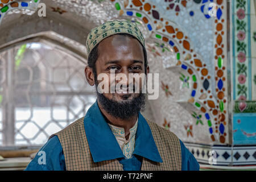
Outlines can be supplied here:
[[[144, 55], [143, 48], [137, 39], [130, 36], [113, 35], [109, 38], [102, 40], [98, 45], [98, 59], [96, 61], [97, 75], [105, 73], [108, 75], [108, 80], [104, 81], [104, 85], [109, 86], [109, 93], [103, 93], [105, 98], [116, 102], [129, 102], [138, 97], [141, 93], [142, 80], [141, 79], [128, 79], [129, 73], [138, 73], [138, 75], [145, 73], [144, 68]], [[110, 80], [110, 72], [115, 73], [115, 78], [121, 76], [123, 73], [127, 80]], [[98, 81], [98, 82], [101, 82]], [[96, 81], [96, 85], [98, 85]], [[113, 83], [114, 82], [114, 83]], [[123, 93], [121, 90], [116, 90], [115, 93], [110, 93], [111, 86], [119, 84], [126, 85], [127, 93]], [[133, 85], [138, 85], [140, 93], [128, 93], [129, 84], [133, 82]], [[117, 93], [117, 91], [119, 93]]]

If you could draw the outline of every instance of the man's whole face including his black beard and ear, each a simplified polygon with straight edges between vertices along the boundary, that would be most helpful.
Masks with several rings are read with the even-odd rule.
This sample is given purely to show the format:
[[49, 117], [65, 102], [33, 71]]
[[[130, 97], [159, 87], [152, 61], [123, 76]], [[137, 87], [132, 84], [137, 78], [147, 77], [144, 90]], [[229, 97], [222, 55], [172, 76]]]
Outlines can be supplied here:
[[[95, 65], [96, 73], [87, 66], [85, 76], [90, 85], [96, 85], [98, 103], [108, 114], [129, 120], [144, 109], [146, 93], [142, 93], [142, 79], [129, 78], [130, 73], [137, 73], [139, 77], [149, 72], [148, 67], [144, 68], [143, 48], [137, 39], [113, 35], [102, 40], [98, 45], [98, 59]], [[100, 75], [105, 75], [104, 79], [97, 80]], [[114, 79], [111, 79], [113, 75]], [[127, 79], [117, 79], [120, 75], [126, 76]], [[146, 76], [143, 83], [144, 81]], [[131, 84], [133, 86], [130, 86]], [[98, 90], [100, 85], [104, 85], [104, 90], [107, 86], [109, 92], [100, 92], [102, 91]], [[120, 92], [120, 89], [125, 92]]]

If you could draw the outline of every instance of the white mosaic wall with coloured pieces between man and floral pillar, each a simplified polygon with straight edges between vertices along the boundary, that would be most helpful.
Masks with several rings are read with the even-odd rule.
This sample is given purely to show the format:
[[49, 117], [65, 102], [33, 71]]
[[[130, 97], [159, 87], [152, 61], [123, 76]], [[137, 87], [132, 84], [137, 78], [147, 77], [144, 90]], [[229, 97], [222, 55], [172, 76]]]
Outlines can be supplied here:
[[[226, 5], [216, 1], [212, 17], [212, 2], [113, 1], [121, 17], [136, 19], [147, 31], [150, 68], [160, 73], [163, 90], [152, 101], [162, 106], [156, 122], [188, 142], [229, 143]], [[161, 67], [155, 64], [161, 61]]]

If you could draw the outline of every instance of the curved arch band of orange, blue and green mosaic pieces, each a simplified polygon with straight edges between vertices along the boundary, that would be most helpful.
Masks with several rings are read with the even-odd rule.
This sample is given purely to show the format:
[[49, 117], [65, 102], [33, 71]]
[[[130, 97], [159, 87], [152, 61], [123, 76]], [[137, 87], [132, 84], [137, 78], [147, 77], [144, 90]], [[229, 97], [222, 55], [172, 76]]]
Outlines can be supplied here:
[[[113, 0], [112, 2], [115, 9], [119, 11], [119, 16], [130, 16], [140, 19], [146, 25], [148, 31], [151, 32], [151, 38], [161, 40], [163, 43], [174, 48], [177, 58], [179, 58], [177, 59], [176, 66], [191, 75], [193, 80], [194, 89], [191, 93], [191, 99], [187, 102], [192, 104], [195, 110], [200, 110], [204, 113], [209, 126], [210, 138], [213, 142], [216, 142], [215, 133], [217, 132], [215, 129], [217, 126], [214, 121], [218, 119], [218, 104], [212, 90], [209, 88], [209, 84], [214, 83], [210, 82], [207, 65], [199, 53], [193, 50], [189, 37], [184, 34], [184, 31], [176, 23], [160, 17], [155, 5], [139, 0], [124, 1], [124, 4], [121, 1]], [[181, 101], [180, 104], [184, 105], [183, 102]]]

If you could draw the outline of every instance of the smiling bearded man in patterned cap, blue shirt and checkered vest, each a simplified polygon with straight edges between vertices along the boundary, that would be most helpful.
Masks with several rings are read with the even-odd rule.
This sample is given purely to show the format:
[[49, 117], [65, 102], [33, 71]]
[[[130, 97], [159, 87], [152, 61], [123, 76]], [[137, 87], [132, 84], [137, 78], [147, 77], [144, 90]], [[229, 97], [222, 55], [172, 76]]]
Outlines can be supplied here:
[[[86, 80], [96, 86], [97, 101], [85, 117], [52, 135], [41, 155], [26, 170], [199, 170], [194, 156], [174, 133], [145, 119], [141, 79], [113, 79], [111, 75], [149, 73], [144, 38], [136, 24], [113, 20], [93, 28], [86, 41]], [[98, 79], [100, 75], [104, 79]], [[107, 77], [106, 77], [107, 76]], [[100, 92], [101, 89], [114, 93]], [[139, 93], [117, 89], [139, 85]], [[135, 86], [132, 87], [134, 91]], [[118, 92], [117, 92], [118, 91]], [[127, 91], [127, 92], [126, 92]]]

